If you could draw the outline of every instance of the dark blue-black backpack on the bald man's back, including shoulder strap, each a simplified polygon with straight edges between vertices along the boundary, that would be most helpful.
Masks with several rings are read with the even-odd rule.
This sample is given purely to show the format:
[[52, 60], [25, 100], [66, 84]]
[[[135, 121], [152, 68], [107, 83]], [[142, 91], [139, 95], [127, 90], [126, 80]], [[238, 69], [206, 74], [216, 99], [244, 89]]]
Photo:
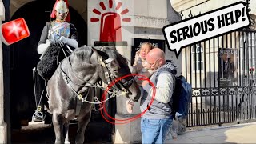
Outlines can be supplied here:
[[[158, 76], [164, 71], [167, 71], [173, 75], [176, 74], [174, 70], [170, 70], [167, 67], [162, 67], [156, 73], [156, 82], [158, 82]], [[174, 93], [169, 102], [170, 107], [172, 108], [173, 118], [175, 118], [175, 114], [176, 112], [178, 112], [178, 118], [186, 119], [188, 115], [189, 106], [192, 100], [192, 88], [190, 86], [190, 83], [186, 82], [186, 78], [184, 78], [184, 76], [174, 76], [174, 78]]]

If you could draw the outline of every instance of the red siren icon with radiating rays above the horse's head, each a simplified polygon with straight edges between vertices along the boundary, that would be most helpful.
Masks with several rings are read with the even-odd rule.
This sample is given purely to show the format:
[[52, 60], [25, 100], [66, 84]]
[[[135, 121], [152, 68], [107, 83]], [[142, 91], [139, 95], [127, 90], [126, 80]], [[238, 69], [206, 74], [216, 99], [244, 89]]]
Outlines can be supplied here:
[[130, 22], [131, 18], [122, 18], [124, 14], [129, 12], [128, 9], [120, 10], [122, 2], [118, 2], [118, 5], [113, 7], [113, 0], [109, 0], [109, 10], [116, 12], [106, 11], [104, 2], [99, 2], [103, 12], [94, 9], [94, 14], [98, 14], [100, 18], [90, 18], [90, 22], [101, 22], [100, 26], [100, 41], [101, 42], [121, 42], [122, 41], [122, 22]]

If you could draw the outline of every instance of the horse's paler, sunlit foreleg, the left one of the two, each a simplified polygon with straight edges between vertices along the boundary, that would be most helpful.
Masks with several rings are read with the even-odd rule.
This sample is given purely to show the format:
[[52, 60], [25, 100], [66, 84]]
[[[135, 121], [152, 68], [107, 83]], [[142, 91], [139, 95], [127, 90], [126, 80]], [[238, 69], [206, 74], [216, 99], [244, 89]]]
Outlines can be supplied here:
[[55, 133], [55, 143], [56, 144], [62, 144], [64, 143], [64, 137], [63, 137], [63, 117], [62, 114], [53, 114], [53, 124], [54, 124], [54, 133]]

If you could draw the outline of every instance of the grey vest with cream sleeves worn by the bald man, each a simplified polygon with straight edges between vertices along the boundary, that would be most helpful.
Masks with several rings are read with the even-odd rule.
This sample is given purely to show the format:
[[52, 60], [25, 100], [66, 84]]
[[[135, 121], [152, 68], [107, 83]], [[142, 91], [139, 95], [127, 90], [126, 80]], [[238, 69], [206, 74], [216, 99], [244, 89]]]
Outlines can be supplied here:
[[[162, 67], [167, 67], [176, 71], [176, 66], [174, 66], [173, 62], [168, 62]], [[158, 70], [159, 69], [160, 68], [158, 68]], [[140, 106], [142, 112], [144, 112], [144, 110], [150, 106], [152, 97], [154, 96], [154, 100], [149, 107], [149, 110], [146, 110], [146, 113], [142, 115], [143, 118], [162, 119], [170, 118], [171, 116], [172, 110], [170, 108], [169, 102], [174, 91], [174, 74], [170, 74], [169, 72], [164, 71], [159, 74], [158, 82], [156, 82], [156, 74], [158, 74], [158, 70], [156, 70], [150, 78], [150, 81], [156, 87], [155, 96], [153, 94], [153, 86], [150, 86], [149, 84], [143, 86], [144, 94], [142, 96]]]

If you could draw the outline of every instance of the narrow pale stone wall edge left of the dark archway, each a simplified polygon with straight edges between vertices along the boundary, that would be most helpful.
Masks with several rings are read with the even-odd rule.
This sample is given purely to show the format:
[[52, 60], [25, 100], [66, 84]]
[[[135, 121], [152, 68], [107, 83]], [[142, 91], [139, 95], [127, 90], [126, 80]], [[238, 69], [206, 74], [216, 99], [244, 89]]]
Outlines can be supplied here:
[[[5, 20], [5, 7], [0, 0], [0, 26]], [[7, 143], [7, 124], [4, 121], [4, 89], [2, 67], [2, 40], [0, 38], [0, 143]]]

